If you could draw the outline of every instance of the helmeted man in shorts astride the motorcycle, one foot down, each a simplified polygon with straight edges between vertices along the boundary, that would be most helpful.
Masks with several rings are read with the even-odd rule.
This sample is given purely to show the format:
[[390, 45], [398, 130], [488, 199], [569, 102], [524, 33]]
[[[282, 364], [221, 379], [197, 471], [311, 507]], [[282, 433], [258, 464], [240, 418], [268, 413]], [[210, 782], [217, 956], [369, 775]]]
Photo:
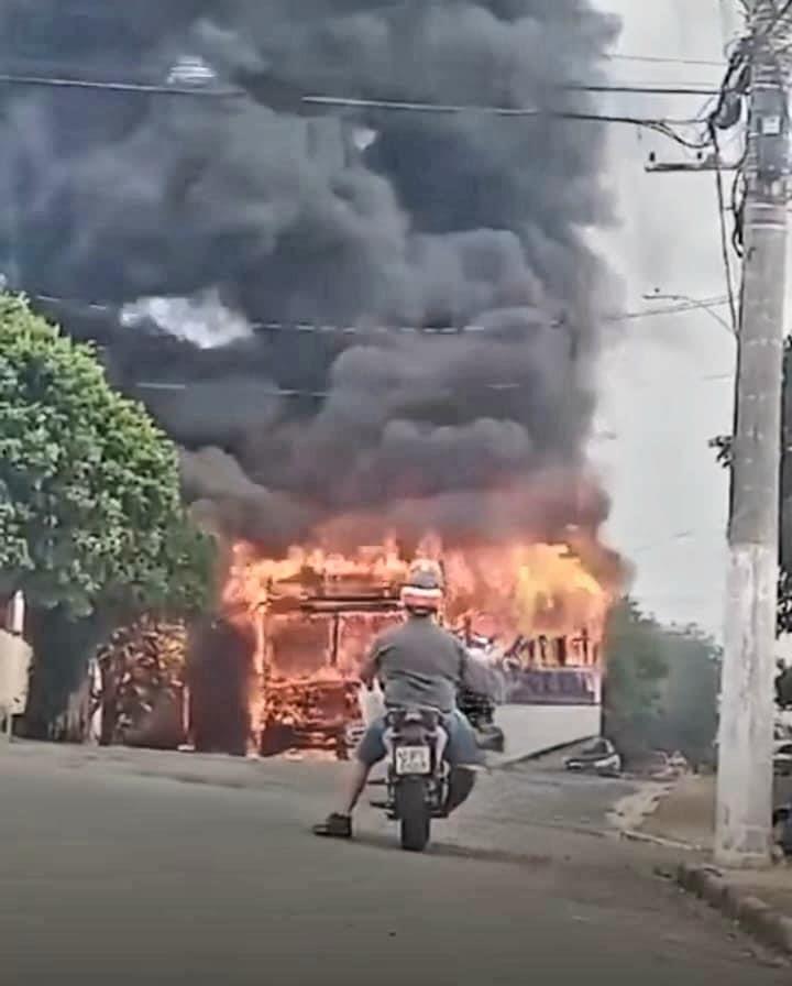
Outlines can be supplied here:
[[[361, 669], [361, 680], [371, 688], [375, 678], [380, 679], [386, 708], [420, 705], [443, 714], [448, 733], [446, 757], [451, 765], [448, 813], [465, 800], [473, 788], [475, 773], [483, 766], [475, 732], [457, 708], [457, 692], [464, 684], [491, 694], [495, 682], [483, 665], [471, 659], [461, 640], [436, 622], [442, 596], [439, 568], [426, 562], [414, 567], [402, 590], [407, 620], [375, 639]], [[358, 747], [344, 800], [338, 811], [315, 825], [316, 835], [352, 836], [352, 812], [372, 768], [387, 753], [385, 730], [384, 716], [366, 730]]]

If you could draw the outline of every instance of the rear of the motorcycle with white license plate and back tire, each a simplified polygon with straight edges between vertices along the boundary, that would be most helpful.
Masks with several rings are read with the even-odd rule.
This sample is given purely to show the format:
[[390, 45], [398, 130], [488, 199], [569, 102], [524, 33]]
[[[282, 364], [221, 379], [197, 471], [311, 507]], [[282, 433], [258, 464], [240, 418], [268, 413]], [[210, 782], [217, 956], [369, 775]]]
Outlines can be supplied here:
[[451, 771], [443, 756], [447, 743], [436, 710], [394, 709], [387, 713], [386, 800], [376, 807], [399, 823], [402, 848], [407, 852], [424, 852], [432, 820], [448, 817]]

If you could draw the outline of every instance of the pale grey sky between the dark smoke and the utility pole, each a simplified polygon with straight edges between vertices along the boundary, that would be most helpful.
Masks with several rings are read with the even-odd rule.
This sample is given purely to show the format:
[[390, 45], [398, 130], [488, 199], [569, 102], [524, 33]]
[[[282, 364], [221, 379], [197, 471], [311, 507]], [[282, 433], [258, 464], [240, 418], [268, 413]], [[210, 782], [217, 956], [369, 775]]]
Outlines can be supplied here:
[[[723, 58], [718, 0], [598, 2], [623, 18], [620, 55]], [[619, 81], [717, 85], [721, 69], [616, 58], [612, 74]], [[640, 99], [614, 97], [623, 109], [654, 116], [690, 117], [702, 107], [696, 97]], [[618, 224], [595, 239], [624, 280], [628, 309], [663, 307], [644, 299], [656, 291], [723, 296], [714, 175], [647, 174], [650, 151], [662, 161], [689, 153], [659, 135], [612, 128], [608, 175]], [[707, 442], [730, 431], [734, 366], [734, 338], [706, 310], [623, 324], [602, 358], [600, 438], [592, 447], [613, 497], [608, 538], [636, 568], [634, 595], [663, 622], [696, 623], [716, 638], [728, 484]]]

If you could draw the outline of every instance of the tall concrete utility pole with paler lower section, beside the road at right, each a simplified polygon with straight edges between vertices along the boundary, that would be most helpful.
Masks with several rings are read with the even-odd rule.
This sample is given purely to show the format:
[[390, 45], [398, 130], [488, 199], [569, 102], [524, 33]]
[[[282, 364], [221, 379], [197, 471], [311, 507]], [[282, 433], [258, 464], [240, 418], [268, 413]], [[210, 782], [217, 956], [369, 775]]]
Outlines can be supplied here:
[[745, 264], [715, 832], [723, 866], [769, 861], [792, 0], [750, 0]]

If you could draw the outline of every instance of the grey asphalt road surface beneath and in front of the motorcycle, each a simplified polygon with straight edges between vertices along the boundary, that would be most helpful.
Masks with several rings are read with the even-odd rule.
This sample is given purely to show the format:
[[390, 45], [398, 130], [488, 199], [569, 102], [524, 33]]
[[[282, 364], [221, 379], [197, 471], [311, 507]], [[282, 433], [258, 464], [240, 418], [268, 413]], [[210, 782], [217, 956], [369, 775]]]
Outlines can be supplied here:
[[616, 842], [515, 801], [504, 831], [542, 854], [327, 843], [298, 776], [231, 790], [0, 754], [0, 983], [789, 983]]

